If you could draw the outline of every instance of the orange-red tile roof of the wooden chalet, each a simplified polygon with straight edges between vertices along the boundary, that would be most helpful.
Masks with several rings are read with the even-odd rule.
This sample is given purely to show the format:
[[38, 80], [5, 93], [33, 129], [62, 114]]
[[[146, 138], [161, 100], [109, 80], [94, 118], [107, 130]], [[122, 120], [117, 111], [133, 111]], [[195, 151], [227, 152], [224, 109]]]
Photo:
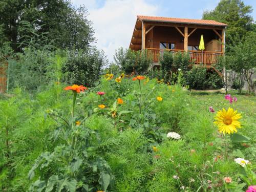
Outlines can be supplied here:
[[138, 15], [140, 20], [148, 20], [152, 22], [166, 22], [166, 23], [181, 23], [181, 24], [195, 24], [195, 25], [212, 25], [212, 26], [227, 26], [226, 24], [216, 22], [215, 20], [203, 19], [188, 19], [188, 18], [172, 18], [172, 17], [155, 17]]

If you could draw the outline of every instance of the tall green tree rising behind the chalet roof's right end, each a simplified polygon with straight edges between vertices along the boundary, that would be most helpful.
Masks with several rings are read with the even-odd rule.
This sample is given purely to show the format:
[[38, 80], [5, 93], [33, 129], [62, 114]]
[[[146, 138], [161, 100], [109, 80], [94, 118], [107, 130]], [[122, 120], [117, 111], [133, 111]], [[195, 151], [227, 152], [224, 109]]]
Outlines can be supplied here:
[[222, 0], [212, 11], [205, 11], [203, 19], [212, 19], [227, 24], [226, 42], [236, 44], [247, 31], [253, 30], [252, 7], [241, 0]]

